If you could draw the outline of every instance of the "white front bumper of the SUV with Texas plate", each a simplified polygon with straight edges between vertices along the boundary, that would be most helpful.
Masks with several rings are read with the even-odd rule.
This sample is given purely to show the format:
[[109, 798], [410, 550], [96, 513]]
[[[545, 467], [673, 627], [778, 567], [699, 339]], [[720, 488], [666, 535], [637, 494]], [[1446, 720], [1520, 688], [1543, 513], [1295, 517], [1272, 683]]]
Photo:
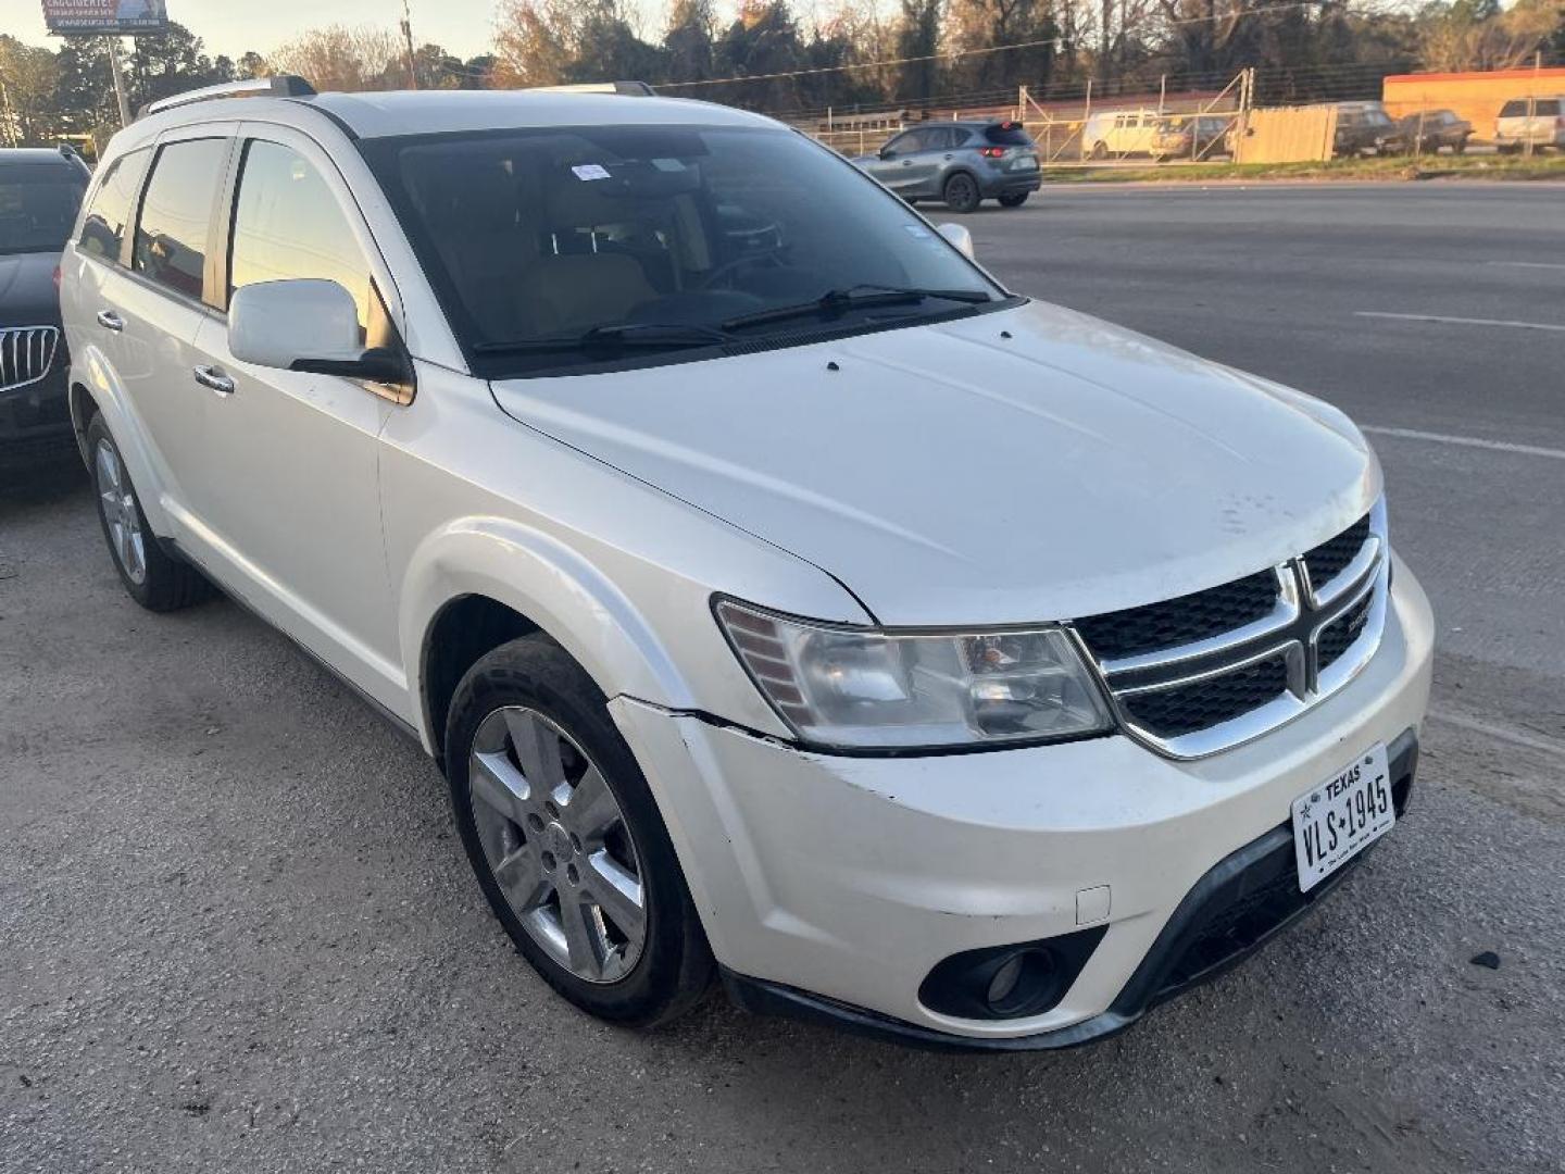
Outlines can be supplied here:
[[[610, 709], [742, 1003], [922, 1044], [1050, 1047], [1119, 1030], [1177, 992], [1166, 942], [1191, 894], [1235, 853], [1274, 852], [1293, 800], [1344, 761], [1416, 731], [1430, 642], [1427, 600], [1399, 564], [1380, 648], [1354, 681], [1189, 762], [1122, 736], [831, 756], [629, 698]], [[959, 1019], [920, 1002], [950, 955], [1092, 927], [1100, 942], [1041, 1014]]]

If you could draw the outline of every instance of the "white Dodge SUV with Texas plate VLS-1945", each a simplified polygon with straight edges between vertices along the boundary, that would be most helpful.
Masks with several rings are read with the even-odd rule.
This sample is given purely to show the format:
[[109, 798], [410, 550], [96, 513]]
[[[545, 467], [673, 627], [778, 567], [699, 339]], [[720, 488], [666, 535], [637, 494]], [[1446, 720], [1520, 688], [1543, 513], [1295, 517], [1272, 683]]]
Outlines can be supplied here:
[[1055, 1047], [1393, 825], [1430, 617], [1340, 412], [969, 250], [715, 105], [188, 95], [63, 258], [74, 418], [127, 590], [412, 731], [576, 1005]]

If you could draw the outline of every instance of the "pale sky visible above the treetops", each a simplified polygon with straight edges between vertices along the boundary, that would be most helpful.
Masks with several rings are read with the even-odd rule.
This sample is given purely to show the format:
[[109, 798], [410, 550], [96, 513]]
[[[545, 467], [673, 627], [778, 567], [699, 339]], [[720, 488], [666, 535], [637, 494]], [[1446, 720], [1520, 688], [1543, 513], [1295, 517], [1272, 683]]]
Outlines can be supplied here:
[[[468, 58], [488, 50], [495, 0], [408, 0], [413, 38], [435, 42]], [[664, 0], [635, 0], [648, 31], [660, 23]], [[266, 53], [305, 28], [319, 25], [380, 25], [396, 28], [402, 0], [167, 0], [169, 19], [207, 42], [208, 53], [239, 56], [247, 49]], [[39, 0], [0, 0], [0, 33], [28, 44], [50, 44]]]

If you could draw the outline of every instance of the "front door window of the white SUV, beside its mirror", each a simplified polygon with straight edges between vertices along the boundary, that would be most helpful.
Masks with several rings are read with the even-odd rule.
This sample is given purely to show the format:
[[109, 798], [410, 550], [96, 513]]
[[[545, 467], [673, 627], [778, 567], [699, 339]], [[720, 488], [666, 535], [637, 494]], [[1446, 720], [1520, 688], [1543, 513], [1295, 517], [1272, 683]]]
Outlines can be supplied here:
[[254, 282], [321, 277], [336, 282], [369, 326], [369, 266], [321, 174], [299, 152], [252, 139], [233, 208], [230, 294]]

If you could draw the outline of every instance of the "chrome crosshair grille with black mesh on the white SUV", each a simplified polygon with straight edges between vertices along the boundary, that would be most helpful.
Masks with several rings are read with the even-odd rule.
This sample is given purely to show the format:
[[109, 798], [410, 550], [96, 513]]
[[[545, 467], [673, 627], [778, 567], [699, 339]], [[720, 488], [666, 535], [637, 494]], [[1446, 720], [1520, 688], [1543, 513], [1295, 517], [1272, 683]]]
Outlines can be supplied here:
[[1266, 571], [1075, 623], [1125, 731], [1171, 758], [1247, 742], [1363, 668], [1385, 626], [1385, 507]]

